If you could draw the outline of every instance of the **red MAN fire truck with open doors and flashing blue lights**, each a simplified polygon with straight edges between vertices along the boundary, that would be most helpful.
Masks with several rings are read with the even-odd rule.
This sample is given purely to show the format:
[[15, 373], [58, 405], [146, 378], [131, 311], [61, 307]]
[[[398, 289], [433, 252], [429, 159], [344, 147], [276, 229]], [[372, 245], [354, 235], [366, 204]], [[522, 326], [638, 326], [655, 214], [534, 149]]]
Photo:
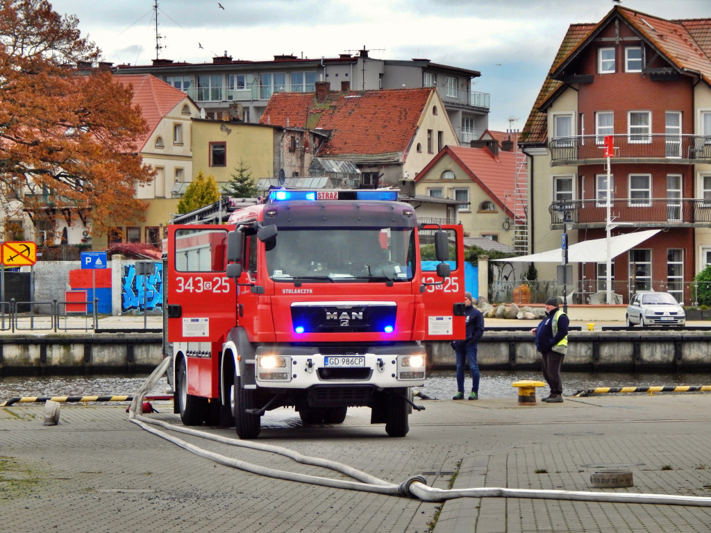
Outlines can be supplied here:
[[[340, 424], [348, 407], [405, 436], [424, 340], [464, 334], [460, 225], [421, 225], [396, 190], [272, 190], [226, 224], [169, 226], [167, 341], [183, 424], [260, 434], [294, 407]], [[420, 246], [434, 245], [423, 271]], [[453, 249], [449, 257], [450, 249]]]

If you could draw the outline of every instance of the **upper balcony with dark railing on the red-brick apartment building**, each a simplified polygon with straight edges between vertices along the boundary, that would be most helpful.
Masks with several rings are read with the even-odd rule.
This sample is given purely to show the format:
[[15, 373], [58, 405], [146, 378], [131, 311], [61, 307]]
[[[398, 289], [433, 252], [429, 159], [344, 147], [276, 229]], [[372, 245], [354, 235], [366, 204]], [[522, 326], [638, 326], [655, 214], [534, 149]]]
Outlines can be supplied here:
[[[605, 163], [604, 137], [555, 137], [548, 143], [551, 166]], [[614, 161], [625, 163], [711, 163], [711, 136], [613, 135]]]

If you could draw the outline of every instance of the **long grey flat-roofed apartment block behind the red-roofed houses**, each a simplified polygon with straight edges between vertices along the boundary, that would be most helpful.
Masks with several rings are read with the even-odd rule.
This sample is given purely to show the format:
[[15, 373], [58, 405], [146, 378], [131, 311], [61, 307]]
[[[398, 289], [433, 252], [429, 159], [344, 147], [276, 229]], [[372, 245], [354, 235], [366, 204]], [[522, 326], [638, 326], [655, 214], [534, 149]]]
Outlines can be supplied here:
[[489, 95], [472, 90], [477, 70], [439, 65], [427, 59], [382, 60], [369, 50], [336, 58], [274, 55], [274, 60], [235, 60], [227, 51], [212, 63], [155, 59], [151, 65], [118, 65], [117, 75], [151, 74], [186, 92], [204, 118], [258, 123], [278, 92], [314, 92], [317, 81], [351, 90], [436, 87], [460, 144], [479, 139], [488, 127]]

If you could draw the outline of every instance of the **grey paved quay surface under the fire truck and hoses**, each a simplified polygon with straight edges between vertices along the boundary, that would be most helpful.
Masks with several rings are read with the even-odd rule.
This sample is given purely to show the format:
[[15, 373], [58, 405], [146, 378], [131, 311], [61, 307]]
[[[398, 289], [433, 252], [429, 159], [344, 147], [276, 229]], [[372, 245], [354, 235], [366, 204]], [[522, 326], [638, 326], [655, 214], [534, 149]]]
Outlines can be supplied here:
[[[1, 391], [1, 382], [0, 382]], [[1, 395], [1, 394], [0, 394]], [[540, 397], [540, 394], [539, 394]], [[421, 400], [410, 434], [388, 438], [369, 409], [340, 426], [301, 426], [289, 409], [262, 419], [260, 443], [346, 463], [392, 483], [424, 475], [446, 489], [592, 488], [590, 475], [630, 470], [634, 487], [604, 492], [711, 497], [709, 393], [608, 394], [562, 404]], [[170, 403], [147, 418], [179, 424]], [[708, 532], [711, 507], [460, 498], [444, 505], [324, 488], [235, 470], [179, 448], [128, 419], [126, 404], [0, 408], [0, 532]], [[235, 436], [233, 429], [204, 428]], [[343, 478], [261, 451], [178, 434], [210, 451]]]

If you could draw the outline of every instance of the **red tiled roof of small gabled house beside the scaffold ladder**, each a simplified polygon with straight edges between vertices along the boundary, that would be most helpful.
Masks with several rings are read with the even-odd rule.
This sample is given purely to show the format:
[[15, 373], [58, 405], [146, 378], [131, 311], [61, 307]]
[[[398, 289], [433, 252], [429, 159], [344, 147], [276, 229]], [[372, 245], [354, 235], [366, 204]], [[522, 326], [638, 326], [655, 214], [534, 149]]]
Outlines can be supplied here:
[[[493, 132], [505, 135], [501, 132]], [[427, 166], [417, 174], [415, 181], [420, 181], [444, 156], [449, 156], [457, 163], [479, 187], [506, 214], [513, 217], [513, 187], [516, 173], [516, 154], [513, 151], [499, 149], [494, 156], [488, 148], [468, 148], [466, 146], [445, 146], [434, 156]], [[509, 197], [509, 198], [506, 198]]]

